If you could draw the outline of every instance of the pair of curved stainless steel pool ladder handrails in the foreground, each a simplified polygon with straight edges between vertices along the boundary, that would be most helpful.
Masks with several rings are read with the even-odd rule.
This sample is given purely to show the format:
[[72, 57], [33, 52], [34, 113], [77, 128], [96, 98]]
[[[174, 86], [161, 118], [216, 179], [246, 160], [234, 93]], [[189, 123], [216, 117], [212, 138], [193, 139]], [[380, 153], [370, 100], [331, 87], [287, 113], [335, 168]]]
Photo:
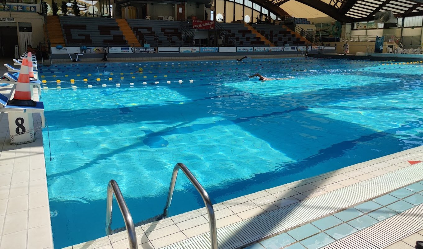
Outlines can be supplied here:
[[[183, 163], [176, 163], [173, 167], [172, 178], [170, 179], [170, 186], [168, 192], [168, 199], [166, 201], [165, 208], [163, 210], [163, 215], [159, 217], [168, 216], [168, 208], [172, 202], [173, 190], [175, 189], [176, 178], [178, 177], [178, 172], [181, 170], [187, 176], [188, 180], [194, 185], [198, 193], [203, 199], [204, 205], [206, 205], [206, 210], [209, 216], [209, 226], [210, 226], [210, 237], [211, 237], [211, 249], [217, 249], [217, 227], [216, 227], [216, 218], [214, 216], [213, 205], [211, 204], [209, 194], [203, 186], [198, 182], [197, 178], [190, 172], [190, 170]], [[128, 232], [129, 240], [129, 249], [138, 249], [137, 246], [137, 235], [135, 233], [134, 221], [132, 220], [131, 213], [129, 212], [128, 206], [126, 205], [125, 199], [122, 196], [121, 190], [119, 189], [118, 183], [115, 180], [110, 180], [109, 185], [107, 185], [107, 210], [106, 210], [106, 234], [112, 234], [110, 228], [112, 224], [112, 201], [113, 194], [116, 196], [118, 201], [118, 206], [121, 210], [122, 216], [124, 217], [126, 231]]]

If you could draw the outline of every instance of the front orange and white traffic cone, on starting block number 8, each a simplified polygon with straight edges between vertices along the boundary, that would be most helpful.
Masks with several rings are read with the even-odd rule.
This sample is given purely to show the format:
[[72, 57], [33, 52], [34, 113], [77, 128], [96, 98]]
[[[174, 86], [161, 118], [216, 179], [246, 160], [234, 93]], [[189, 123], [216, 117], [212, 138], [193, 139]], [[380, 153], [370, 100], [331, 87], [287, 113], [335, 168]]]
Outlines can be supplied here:
[[13, 100], [9, 100], [8, 105], [36, 106], [36, 102], [31, 100], [31, 85], [29, 83], [28, 60], [26, 58], [22, 60], [21, 70], [16, 83]]

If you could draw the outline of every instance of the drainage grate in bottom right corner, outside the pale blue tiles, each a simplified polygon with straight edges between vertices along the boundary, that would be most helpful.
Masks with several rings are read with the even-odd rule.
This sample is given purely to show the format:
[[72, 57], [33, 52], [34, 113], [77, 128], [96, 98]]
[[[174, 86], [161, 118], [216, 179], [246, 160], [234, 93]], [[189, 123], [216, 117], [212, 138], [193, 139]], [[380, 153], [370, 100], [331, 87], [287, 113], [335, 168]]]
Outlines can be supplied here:
[[423, 228], [423, 204], [345, 237], [322, 249], [379, 249]]

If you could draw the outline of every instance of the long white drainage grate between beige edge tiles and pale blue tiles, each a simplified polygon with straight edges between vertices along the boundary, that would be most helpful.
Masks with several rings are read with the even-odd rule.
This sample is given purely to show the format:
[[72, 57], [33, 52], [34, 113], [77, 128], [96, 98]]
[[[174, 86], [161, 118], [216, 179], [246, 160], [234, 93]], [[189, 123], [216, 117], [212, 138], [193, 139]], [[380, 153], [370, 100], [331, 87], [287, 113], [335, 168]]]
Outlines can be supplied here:
[[[321, 216], [372, 199], [423, 178], [423, 163], [398, 169], [354, 185], [297, 202], [217, 230], [220, 249], [235, 249], [267, 236], [296, 227]], [[389, 184], [387, 184], [389, 183]], [[423, 218], [422, 218], [423, 219]], [[394, 230], [396, 231], [396, 230]], [[357, 238], [358, 239], [358, 238]], [[358, 242], [357, 242], [358, 243]], [[357, 244], [358, 245], [358, 244]], [[352, 247], [351, 247], [352, 246]], [[355, 246], [355, 244], [354, 244]], [[377, 247], [349, 245], [348, 248]], [[209, 249], [209, 232], [175, 243], [163, 249]], [[329, 247], [328, 247], [329, 248]]]

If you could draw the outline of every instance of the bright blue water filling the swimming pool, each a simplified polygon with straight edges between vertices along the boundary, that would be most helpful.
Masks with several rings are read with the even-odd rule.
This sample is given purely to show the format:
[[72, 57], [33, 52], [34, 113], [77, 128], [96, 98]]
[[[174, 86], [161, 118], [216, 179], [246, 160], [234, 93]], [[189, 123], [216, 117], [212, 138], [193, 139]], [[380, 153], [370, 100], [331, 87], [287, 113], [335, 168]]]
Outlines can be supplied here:
[[[111, 179], [138, 222], [162, 212], [178, 162], [217, 203], [421, 145], [422, 64], [383, 63], [296, 58], [43, 67], [55, 248], [105, 235]], [[143, 74], [134, 73], [139, 66]], [[256, 72], [289, 79], [247, 77]], [[201, 207], [180, 174], [170, 215]], [[123, 227], [114, 210], [112, 227]]]

